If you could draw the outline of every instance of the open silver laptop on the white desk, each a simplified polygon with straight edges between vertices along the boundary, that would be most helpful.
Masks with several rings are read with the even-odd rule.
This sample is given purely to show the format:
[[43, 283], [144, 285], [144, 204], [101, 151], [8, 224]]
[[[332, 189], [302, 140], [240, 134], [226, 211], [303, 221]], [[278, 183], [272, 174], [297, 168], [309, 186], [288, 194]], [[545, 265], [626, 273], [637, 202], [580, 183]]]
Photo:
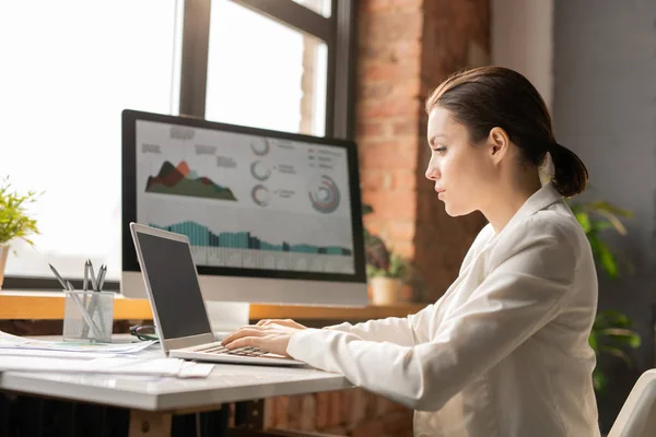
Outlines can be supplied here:
[[212, 332], [189, 238], [138, 223], [130, 223], [130, 233], [165, 354], [214, 363], [305, 365], [257, 347], [223, 347]]

